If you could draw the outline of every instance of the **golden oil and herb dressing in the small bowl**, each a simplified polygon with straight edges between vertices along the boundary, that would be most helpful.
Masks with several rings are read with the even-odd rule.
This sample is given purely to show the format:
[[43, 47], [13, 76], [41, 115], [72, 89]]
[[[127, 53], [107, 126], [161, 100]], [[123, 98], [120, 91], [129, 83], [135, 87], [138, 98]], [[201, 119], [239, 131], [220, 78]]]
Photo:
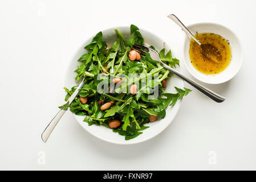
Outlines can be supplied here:
[[231, 61], [229, 41], [218, 34], [194, 35], [201, 46], [190, 41], [189, 57], [192, 65], [201, 73], [214, 75], [224, 71]]

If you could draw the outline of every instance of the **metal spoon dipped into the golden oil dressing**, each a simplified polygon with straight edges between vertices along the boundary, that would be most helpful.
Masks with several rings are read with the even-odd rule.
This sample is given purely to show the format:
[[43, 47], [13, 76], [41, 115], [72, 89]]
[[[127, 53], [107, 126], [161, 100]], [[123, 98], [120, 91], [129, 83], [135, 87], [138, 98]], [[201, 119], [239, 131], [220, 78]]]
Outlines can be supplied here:
[[213, 61], [214, 63], [220, 63], [222, 56], [220, 51], [215, 46], [212, 44], [201, 44], [188, 30], [188, 28], [181, 22], [181, 20], [178, 19], [174, 14], [168, 15], [168, 18], [173, 20], [173, 22], [182, 28], [182, 30], [186, 33], [186, 35], [189, 36], [189, 38], [194, 39], [201, 46], [201, 54], [205, 59]]

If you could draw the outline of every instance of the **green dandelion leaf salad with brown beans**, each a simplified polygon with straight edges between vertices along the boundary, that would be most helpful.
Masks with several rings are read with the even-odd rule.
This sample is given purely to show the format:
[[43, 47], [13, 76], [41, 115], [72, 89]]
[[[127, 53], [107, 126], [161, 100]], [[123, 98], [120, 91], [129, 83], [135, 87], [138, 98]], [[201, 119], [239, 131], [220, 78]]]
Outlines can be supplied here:
[[[176, 104], [191, 90], [175, 87], [177, 93], [165, 91], [166, 80], [172, 73], [148, 53], [133, 49], [135, 43], [144, 45], [138, 27], [131, 25], [128, 40], [118, 30], [115, 34], [116, 41], [111, 47], [102, 40], [102, 32], [84, 47], [87, 51], [79, 58], [80, 65], [75, 70], [75, 80], [86, 78], [83, 88], [71, 104], [67, 102], [59, 108], [70, 108], [72, 113], [83, 115], [88, 125], [104, 125], [129, 140], [149, 127], [145, 124], [161, 122], [166, 107]], [[165, 53], [163, 48], [159, 56], [170, 67], [179, 66], [180, 61], [172, 57], [171, 51]], [[65, 101], [77, 87], [64, 88]]]

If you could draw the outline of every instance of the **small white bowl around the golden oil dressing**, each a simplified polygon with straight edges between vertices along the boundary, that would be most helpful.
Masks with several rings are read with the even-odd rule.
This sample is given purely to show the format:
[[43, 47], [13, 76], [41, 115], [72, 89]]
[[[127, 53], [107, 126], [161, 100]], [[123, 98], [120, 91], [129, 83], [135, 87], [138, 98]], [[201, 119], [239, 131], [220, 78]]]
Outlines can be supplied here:
[[188, 71], [191, 73], [191, 75], [197, 78], [197, 80], [200, 80], [208, 84], [221, 84], [233, 78], [238, 73], [243, 62], [243, 51], [241, 43], [239, 42], [239, 39], [234, 34], [234, 32], [229, 30], [229, 28], [226, 28], [216, 23], [196, 23], [191, 24], [187, 27], [190, 30], [190, 32], [192, 32], [193, 35], [196, 34], [196, 32], [198, 32], [199, 34], [211, 32], [223, 36], [225, 39], [229, 40], [232, 56], [229, 66], [224, 71], [216, 75], [205, 75], [204, 73], [197, 71], [197, 69], [194, 68], [194, 66], [190, 62], [190, 39], [187, 35], [185, 35], [184, 61], [186, 68], [188, 68]]

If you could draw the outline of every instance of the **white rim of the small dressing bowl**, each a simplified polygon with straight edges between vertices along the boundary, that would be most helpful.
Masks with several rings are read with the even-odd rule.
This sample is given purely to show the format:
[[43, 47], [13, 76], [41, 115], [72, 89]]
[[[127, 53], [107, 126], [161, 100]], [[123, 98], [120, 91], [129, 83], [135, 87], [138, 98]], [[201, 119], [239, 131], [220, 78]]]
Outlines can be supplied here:
[[187, 35], [186, 35], [185, 32], [184, 32], [185, 35], [184, 35], [184, 44], [183, 44], [183, 59], [184, 59], [184, 63], [185, 63], [186, 69], [189, 71], [189, 73], [190, 73], [194, 78], [196, 78], [197, 80], [199, 80], [199, 81], [201, 81], [201, 82], [204, 82], [204, 83], [206, 83], [206, 84], [212, 84], [212, 85], [223, 84], [223, 83], [225, 83], [225, 82], [231, 80], [235, 75], [237, 75], [237, 73], [240, 71], [240, 69], [241, 69], [241, 67], [242, 67], [243, 60], [244, 60], [244, 52], [243, 52], [243, 47], [242, 47], [241, 41], [240, 41], [240, 39], [238, 38], [238, 36], [234, 33], [234, 31], [230, 30], [230, 28], [227, 28], [226, 26], [224, 26], [224, 25], [222, 25], [222, 24], [213, 23], [213, 22], [200, 22], [200, 23], [192, 23], [192, 24], [189, 24], [189, 25], [186, 26], [186, 27], [188, 27], [188, 29], [189, 29], [189, 27], [196, 27], [196, 26], [200, 26], [200, 25], [202, 25], [202, 24], [205, 24], [205, 25], [213, 25], [213, 26], [218, 26], [218, 27], [225, 28], [226, 30], [230, 31], [230, 32], [234, 35], [235, 39], [237, 39], [237, 42], [238, 42], [239, 46], [241, 47], [241, 50], [240, 50], [240, 51], [241, 51], [241, 57], [242, 57], [242, 58], [241, 58], [241, 60], [240, 60], [240, 62], [239, 62], [239, 63], [240, 63], [240, 64], [239, 64], [239, 68], [237, 69], [237, 72], [235, 72], [235, 73], [233, 74], [233, 76], [231, 76], [229, 79], [226, 79], [226, 80], [223, 80], [223, 81], [218, 81], [218, 82], [205, 81], [205, 80], [202, 80], [200, 77], [194, 75], [194, 73], [190, 70], [190, 68], [188, 67], [188, 64], [186, 63], [186, 60], [185, 60], [185, 51], [184, 51], [184, 49], [185, 49], [185, 43], [186, 43], [186, 37], [187, 37]]

